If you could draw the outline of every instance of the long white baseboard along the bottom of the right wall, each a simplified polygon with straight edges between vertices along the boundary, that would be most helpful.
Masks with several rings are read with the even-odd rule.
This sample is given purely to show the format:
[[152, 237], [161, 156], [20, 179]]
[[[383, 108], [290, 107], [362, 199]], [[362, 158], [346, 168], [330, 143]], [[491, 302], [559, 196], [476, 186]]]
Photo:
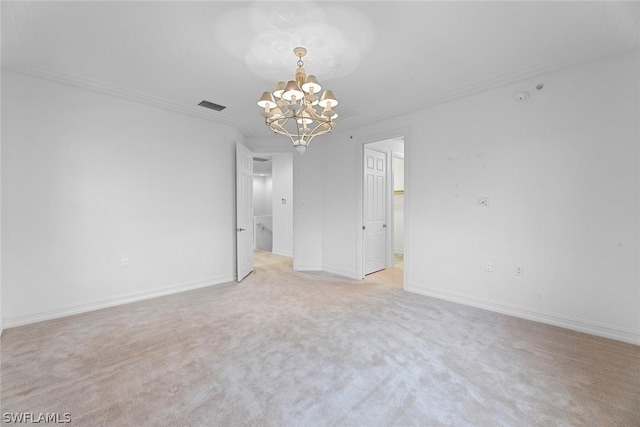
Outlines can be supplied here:
[[423, 288], [421, 286], [405, 284], [404, 290], [407, 292], [469, 305], [496, 313], [507, 314], [509, 316], [559, 326], [561, 328], [571, 329], [578, 332], [584, 332], [586, 334], [610, 338], [617, 341], [623, 341], [629, 344], [640, 345], [639, 333], [620, 329], [617, 327], [602, 325], [585, 320], [572, 319], [555, 314], [543, 313], [535, 310], [529, 310], [524, 307], [516, 307], [508, 304], [481, 300], [465, 295], [454, 294], [451, 292]]

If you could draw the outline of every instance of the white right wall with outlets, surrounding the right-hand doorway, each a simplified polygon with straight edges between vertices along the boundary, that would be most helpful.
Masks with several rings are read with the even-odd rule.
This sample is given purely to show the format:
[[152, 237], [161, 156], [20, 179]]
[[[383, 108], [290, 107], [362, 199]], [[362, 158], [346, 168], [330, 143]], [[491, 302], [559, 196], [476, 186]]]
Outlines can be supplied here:
[[[640, 343], [638, 62], [634, 51], [326, 137], [323, 267], [357, 271], [361, 144], [408, 129], [406, 289]], [[518, 105], [521, 90], [531, 99]]]

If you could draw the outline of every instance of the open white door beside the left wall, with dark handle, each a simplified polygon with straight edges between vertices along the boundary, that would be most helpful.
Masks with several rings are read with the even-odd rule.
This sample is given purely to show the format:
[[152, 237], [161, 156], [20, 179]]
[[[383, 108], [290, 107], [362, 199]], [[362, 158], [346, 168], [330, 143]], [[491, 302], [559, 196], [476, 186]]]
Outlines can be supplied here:
[[253, 271], [253, 153], [236, 142], [236, 277]]

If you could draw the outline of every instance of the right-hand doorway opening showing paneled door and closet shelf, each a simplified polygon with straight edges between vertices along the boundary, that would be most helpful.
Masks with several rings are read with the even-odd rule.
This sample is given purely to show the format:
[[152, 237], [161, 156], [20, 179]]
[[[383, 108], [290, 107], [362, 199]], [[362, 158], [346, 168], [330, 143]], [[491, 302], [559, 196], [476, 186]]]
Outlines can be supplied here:
[[403, 287], [404, 137], [363, 145], [362, 272]]

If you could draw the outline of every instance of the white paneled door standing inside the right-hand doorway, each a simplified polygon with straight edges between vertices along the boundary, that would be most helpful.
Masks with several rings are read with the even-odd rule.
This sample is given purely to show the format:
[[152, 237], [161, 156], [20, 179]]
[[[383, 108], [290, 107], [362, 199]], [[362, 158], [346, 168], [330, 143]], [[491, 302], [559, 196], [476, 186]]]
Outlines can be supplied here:
[[386, 267], [387, 153], [364, 148], [364, 274]]

